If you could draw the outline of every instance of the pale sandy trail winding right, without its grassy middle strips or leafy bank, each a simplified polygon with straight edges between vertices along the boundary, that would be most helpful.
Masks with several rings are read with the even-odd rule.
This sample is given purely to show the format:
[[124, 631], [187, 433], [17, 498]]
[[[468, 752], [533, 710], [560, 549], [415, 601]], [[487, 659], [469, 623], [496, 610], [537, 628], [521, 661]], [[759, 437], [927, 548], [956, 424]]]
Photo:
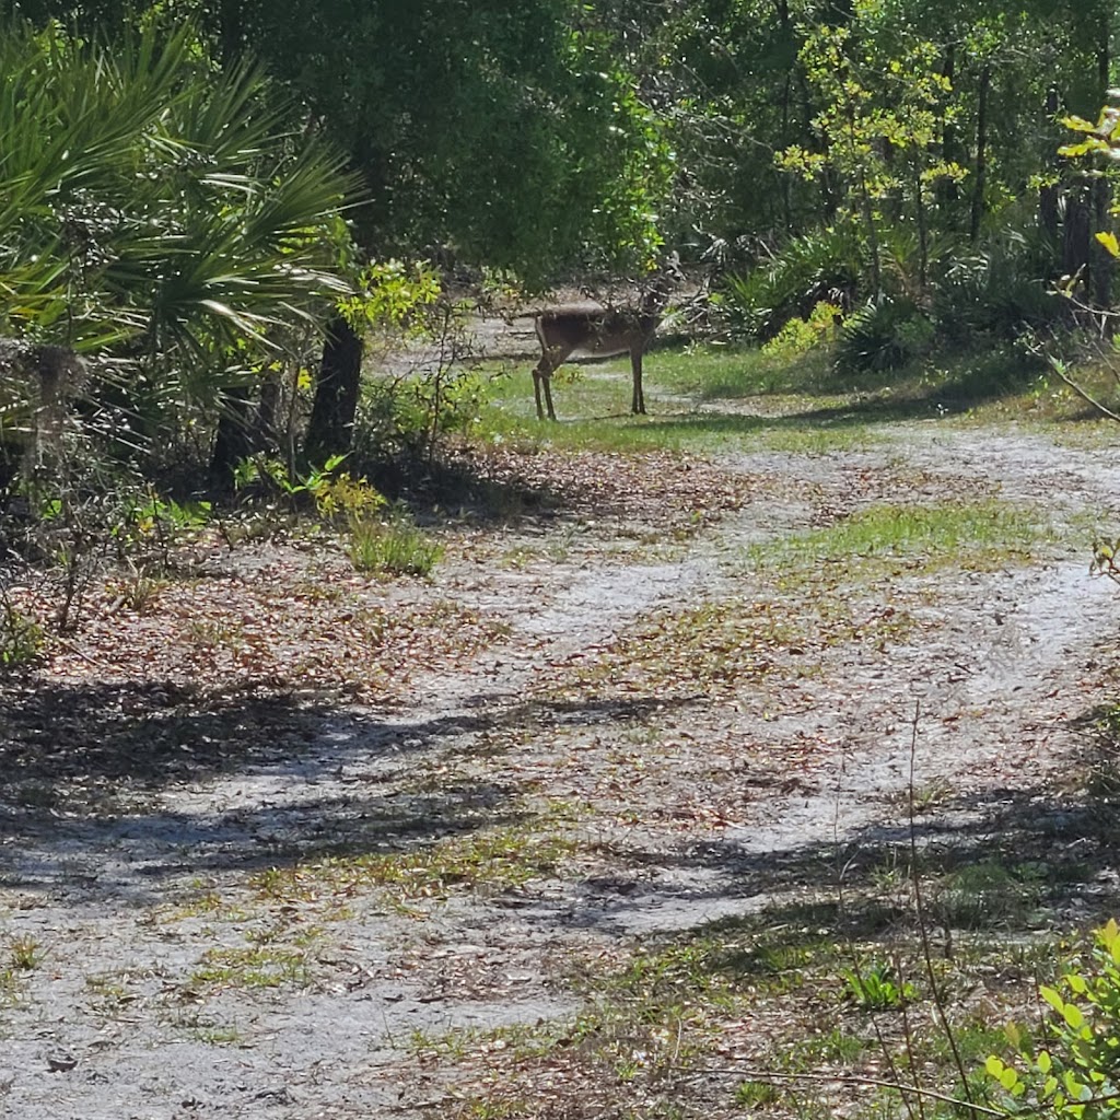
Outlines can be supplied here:
[[[684, 700], [656, 681], [626, 702], [557, 700], [558, 681], [659, 612], [773, 594], [747, 547], [822, 508], [892, 500], [880, 476], [917, 478], [902, 495], [915, 503], [982, 484], [1043, 504], [1060, 529], [1120, 514], [1114, 470], [1038, 435], [909, 424], [877, 436], [865, 451], [724, 461], [776, 478], [774, 492], [669, 559], [613, 554], [600, 525], [521, 569], [449, 561], [431, 594], [500, 609], [505, 636], [468, 671], [417, 673], [403, 706], [330, 712], [298, 756], [176, 783], [115, 816], [12, 810], [0, 939], [45, 955], [0, 1002], [0, 1112], [429, 1116], [442, 1090], [426, 1096], [409, 1073], [417, 1032], [571, 1014], [567, 953], [757, 911], [827, 879], [838, 852], [905, 843], [912, 783], [948, 791], [918, 821], [923, 842], [982, 847], [1024, 804], [1044, 822], [1047, 783], [1084, 745], [1075, 720], [1102, 696], [1102, 635], [1116, 631], [1118, 592], [1090, 578], [1085, 542], [1068, 535], [1032, 566], [907, 578], [913, 636], [811, 648], [812, 672]], [[332, 908], [262, 900], [250, 881], [339, 848], [377, 850], [379, 828], [424, 844], [450, 834], [449, 818], [516, 824], [526, 804], [560, 801], [578, 806], [563, 828], [579, 853], [516, 888], [408, 913], [372, 887]], [[1052, 824], [1055, 842], [1075, 842]], [[276, 950], [261, 968], [291, 974], [203, 979], [215, 948], [243, 954], [242, 979], [250, 950]]]

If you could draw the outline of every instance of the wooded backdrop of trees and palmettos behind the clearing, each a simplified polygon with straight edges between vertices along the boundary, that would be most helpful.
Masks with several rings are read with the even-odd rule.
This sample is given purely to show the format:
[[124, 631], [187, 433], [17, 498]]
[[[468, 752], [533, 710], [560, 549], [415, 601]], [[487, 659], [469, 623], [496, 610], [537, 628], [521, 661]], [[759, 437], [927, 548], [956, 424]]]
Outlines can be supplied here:
[[[709, 329], [765, 342], [816, 309], [848, 368], [1048, 332], [1063, 277], [1110, 304], [1109, 179], [1057, 153], [1105, 99], [1104, 0], [2, 18], [0, 330], [93, 363], [84, 433], [144, 477], [170, 446], [227, 485], [280, 451], [281, 391], [308, 418], [289, 472], [347, 451], [362, 335], [427, 292], [368, 263], [531, 292], [672, 253], [710, 280]], [[7, 430], [34, 381], [6, 379]]]

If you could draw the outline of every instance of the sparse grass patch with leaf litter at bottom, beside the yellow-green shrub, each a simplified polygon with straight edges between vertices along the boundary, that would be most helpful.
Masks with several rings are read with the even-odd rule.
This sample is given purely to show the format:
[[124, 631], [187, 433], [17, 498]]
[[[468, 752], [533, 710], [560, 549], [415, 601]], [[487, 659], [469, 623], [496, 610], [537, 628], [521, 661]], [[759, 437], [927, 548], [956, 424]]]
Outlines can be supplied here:
[[418, 1035], [413, 1049], [448, 1085], [469, 1085], [457, 1117], [543, 1116], [542, 1083], [566, 1114], [897, 1116], [883, 1082], [952, 1098], [964, 1092], [958, 1056], [971, 1099], [990, 1104], [983, 1062], [1008, 1052], [993, 1024], [1037, 1015], [1042, 950], [1028, 960], [1020, 948], [965, 942], [930, 977], [913, 913], [859, 890], [572, 959], [576, 1018]]

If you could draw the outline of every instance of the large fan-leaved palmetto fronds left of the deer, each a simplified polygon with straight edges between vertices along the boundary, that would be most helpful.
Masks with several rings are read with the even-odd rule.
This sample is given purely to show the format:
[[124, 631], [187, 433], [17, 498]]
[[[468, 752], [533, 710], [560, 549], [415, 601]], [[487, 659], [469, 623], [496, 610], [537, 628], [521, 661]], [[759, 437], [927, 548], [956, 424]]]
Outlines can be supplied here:
[[348, 291], [353, 183], [297, 123], [189, 27], [110, 50], [0, 26], [0, 334], [122, 358], [125, 396], [250, 376]]

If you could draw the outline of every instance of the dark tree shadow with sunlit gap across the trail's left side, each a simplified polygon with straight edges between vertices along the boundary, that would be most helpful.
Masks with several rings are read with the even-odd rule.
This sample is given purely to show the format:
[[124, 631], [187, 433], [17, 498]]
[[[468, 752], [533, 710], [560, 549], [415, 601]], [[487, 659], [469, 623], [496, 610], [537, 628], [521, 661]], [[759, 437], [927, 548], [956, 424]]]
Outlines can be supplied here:
[[[478, 696], [430, 719], [394, 720], [167, 683], [9, 688], [6, 699], [0, 885], [133, 903], [188, 872], [413, 852], [531, 827], [524, 790], [457, 776], [441, 765], [444, 748], [467, 754], [473, 737], [503, 728], [616, 725], [665, 707]], [[207, 783], [218, 775], [215, 791]]]

